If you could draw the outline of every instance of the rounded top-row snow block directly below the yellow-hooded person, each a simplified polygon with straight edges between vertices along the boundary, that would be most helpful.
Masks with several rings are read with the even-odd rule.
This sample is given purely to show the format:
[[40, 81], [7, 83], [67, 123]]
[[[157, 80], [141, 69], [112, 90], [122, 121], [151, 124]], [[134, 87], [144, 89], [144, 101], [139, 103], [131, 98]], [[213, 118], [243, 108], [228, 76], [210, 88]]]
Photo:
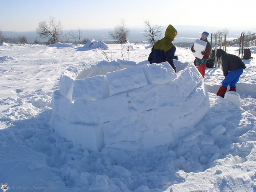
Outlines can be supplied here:
[[168, 62], [145, 64], [142, 69], [149, 84], [166, 84], [177, 78], [177, 74]]

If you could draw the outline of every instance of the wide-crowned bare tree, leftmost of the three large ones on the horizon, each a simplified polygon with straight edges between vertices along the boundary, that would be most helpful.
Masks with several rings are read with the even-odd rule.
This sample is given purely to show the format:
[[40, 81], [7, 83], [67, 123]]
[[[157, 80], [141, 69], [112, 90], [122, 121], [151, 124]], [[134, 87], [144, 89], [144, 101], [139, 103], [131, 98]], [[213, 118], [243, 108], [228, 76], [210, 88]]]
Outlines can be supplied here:
[[61, 33], [62, 33], [61, 22], [59, 21], [56, 23], [53, 17], [50, 17], [48, 25], [46, 21], [39, 22], [39, 25], [37, 28], [37, 34], [41, 38], [49, 38], [47, 42], [48, 45], [60, 41], [59, 38]]

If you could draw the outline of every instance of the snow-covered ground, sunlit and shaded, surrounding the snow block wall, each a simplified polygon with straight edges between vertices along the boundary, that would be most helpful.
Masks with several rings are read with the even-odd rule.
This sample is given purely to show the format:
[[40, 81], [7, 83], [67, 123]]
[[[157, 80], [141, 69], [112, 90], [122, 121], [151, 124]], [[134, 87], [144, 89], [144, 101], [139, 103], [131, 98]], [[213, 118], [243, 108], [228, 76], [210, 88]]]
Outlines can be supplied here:
[[[151, 51], [146, 44], [123, 50], [108, 46], [109, 60], [120, 63], [127, 62], [122, 53], [124, 60], [140, 63]], [[227, 47], [227, 52], [237, 55], [237, 49]], [[178, 141], [144, 150], [106, 146], [91, 152], [62, 138], [49, 121], [61, 74], [106, 60], [102, 52], [73, 44], [0, 44], [0, 183], [10, 191], [256, 191], [254, 49], [253, 59], [244, 60], [237, 93], [225, 98], [215, 95], [221, 67], [206, 69], [210, 108], [199, 123], [181, 129]], [[195, 59], [189, 48], [177, 48], [176, 54], [177, 65]], [[180, 90], [185, 89], [182, 82]]]

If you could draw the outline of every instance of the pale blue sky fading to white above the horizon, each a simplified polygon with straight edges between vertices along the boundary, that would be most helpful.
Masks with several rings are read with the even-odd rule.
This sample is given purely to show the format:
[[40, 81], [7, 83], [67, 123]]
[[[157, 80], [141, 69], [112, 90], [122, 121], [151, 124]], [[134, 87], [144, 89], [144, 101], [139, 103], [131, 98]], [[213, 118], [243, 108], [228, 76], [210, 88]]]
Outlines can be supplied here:
[[[215, 2], [215, 3], [212, 3]], [[1, 0], [1, 31], [35, 31], [40, 21], [61, 21], [64, 30], [197, 25], [255, 29], [255, 0]], [[214, 6], [215, 5], [215, 6]], [[241, 7], [244, 6], [242, 9]], [[246, 18], [250, 19], [246, 19]]]

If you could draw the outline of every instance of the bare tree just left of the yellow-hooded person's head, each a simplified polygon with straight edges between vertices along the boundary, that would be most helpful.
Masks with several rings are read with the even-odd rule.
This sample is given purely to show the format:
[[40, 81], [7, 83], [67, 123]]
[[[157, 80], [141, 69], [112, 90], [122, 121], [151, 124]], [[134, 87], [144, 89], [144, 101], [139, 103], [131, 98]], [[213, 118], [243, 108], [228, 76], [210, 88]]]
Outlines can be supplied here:
[[162, 26], [151, 25], [149, 21], [144, 20], [146, 30], [144, 30], [144, 36], [148, 38], [148, 42], [154, 45], [156, 40], [155, 37], [159, 37], [162, 34]]

